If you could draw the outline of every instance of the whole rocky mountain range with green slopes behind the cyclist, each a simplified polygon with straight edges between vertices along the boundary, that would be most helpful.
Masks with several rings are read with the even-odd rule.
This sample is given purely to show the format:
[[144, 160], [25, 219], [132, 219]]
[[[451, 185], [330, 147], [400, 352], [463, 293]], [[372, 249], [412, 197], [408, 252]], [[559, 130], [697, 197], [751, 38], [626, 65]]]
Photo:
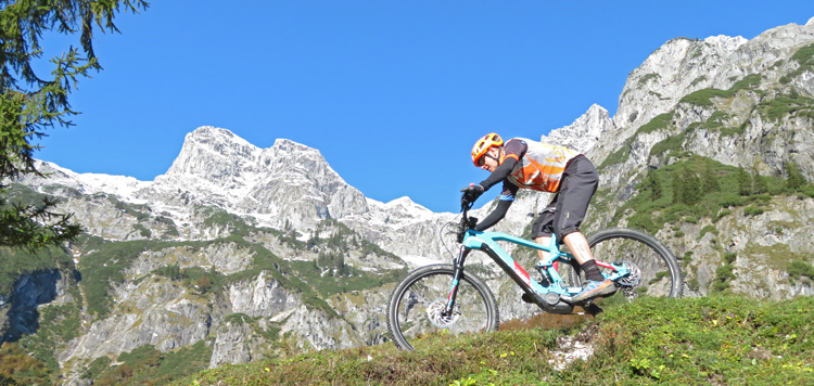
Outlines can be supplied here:
[[[671, 40], [631, 73], [614, 117], [595, 105], [543, 140], [599, 169], [586, 233], [656, 234], [682, 259], [688, 296], [786, 299], [812, 294], [813, 126], [810, 22]], [[87, 229], [63, 248], [2, 252], [1, 350], [29, 358], [26, 379], [43, 384], [104, 384], [111, 369], [126, 383], [147, 368], [161, 382], [380, 344], [394, 283], [448, 259], [438, 234], [456, 219], [366, 198], [317, 150], [258, 149], [212, 127], [154, 181], [39, 168], [50, 177], [12, 181], [13, 195], [59, 197]], [[547, 201], [521, 194], [498, 230], [524, 233]], [[504, 319], [536, 312], [482, 270]]]

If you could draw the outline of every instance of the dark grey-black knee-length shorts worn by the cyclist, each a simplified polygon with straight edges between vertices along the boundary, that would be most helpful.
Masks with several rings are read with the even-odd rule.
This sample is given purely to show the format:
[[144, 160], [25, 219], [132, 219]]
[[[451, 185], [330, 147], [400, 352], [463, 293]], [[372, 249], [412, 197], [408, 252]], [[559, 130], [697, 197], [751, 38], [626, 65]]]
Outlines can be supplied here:
[[554, 233], [562, 242], [569, 233], [578, 232], [598, 184], [599, 176], [588, 158], [578, 155], [571, 159], [562, 173], [560, 191], [534, 219], [532, 237]]

